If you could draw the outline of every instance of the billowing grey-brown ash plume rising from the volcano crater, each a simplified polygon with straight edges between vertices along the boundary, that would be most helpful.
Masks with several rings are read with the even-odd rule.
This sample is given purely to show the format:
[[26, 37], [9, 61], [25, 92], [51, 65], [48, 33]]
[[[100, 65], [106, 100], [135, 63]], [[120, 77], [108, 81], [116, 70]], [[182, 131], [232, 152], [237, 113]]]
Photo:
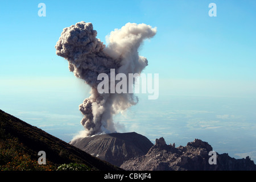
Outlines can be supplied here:
[[55, 46], [56, 54], [68, 60], [69, 71], [92, 87], [91, 96], [79, 106], [87, 136], [114, 132], [113, 115], [138, 102], [133, 93], [98, 93], [98, 75], [110, 76], [110, 69], [115, 69], [115, 75], [141, 73], [147, 59], [138, 55], [138, 48], [144, 39], [155, 34], [156, 28], [146, 24], [127, 23], [110, 32], [106, 47], [96, 38], [92, 23], [79, 22], [63, 29]]

